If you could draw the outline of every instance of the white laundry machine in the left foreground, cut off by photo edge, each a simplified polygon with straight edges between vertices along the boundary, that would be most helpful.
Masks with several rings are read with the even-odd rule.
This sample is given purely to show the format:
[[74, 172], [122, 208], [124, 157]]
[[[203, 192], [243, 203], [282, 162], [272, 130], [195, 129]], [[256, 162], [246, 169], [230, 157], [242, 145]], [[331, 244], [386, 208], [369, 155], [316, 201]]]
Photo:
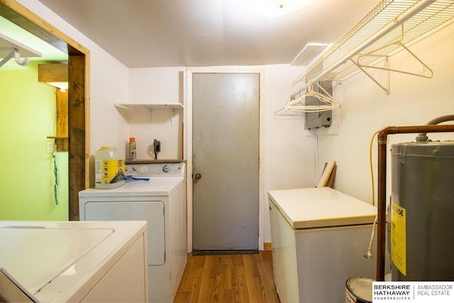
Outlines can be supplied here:
[[0, 302], [147, 302], [145, 221], [0, 221]]

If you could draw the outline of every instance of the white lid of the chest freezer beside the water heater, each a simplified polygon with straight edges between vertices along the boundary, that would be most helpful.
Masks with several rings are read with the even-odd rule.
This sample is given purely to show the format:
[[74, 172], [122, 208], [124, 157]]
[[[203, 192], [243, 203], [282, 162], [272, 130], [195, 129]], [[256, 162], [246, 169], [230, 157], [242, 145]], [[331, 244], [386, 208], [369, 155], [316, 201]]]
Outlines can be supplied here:
[[294, 229], [372, 224], [377, 207], [331, 187], [282, 189], [268, 192]]

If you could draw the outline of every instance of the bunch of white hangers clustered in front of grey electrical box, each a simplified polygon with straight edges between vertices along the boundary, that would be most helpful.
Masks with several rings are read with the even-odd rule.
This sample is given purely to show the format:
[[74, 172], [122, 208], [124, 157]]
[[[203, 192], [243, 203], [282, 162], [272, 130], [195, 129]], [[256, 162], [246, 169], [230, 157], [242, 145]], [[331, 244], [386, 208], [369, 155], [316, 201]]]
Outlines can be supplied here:
[[[291, 101], [287, 103], [285, 109], [289, 111], [297, 111], [302, 113], [308, 113], [313, 111], [331, 111], [332, 109], [337, 109], [341, 106], [338, 101], [333, 99], [328, 92], [326, 92], [323, 87], [316, 83], [316, 85], [321, 89], [320, 92], [315, 92], [314, 87], [311, 81], [306, 83], [305, 94], [302, 94], [300, 97], [294, 98], [294, 95], [290, 98]], [[306, 97], [315, 97], [323, 102], [323, 105], [306, 105]]]

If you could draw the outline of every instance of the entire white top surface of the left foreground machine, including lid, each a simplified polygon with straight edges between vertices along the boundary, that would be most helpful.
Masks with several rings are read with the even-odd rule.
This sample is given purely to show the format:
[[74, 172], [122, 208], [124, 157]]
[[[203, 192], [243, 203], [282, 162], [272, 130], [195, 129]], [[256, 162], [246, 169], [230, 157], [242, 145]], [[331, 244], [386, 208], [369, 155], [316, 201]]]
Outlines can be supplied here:
[[145, 221], [0, 221], [0, 267], [39, 301], [79, 299], [145, 230]]

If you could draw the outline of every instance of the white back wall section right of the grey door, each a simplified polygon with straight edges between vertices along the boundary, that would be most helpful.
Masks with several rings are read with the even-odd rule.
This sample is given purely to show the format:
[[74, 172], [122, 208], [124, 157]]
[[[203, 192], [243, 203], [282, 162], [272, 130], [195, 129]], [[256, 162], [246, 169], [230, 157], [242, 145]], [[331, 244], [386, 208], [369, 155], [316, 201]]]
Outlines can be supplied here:
[[[296, 87], [293, 80], [302, 72], [301, 67], [289, 65], [265, 66], [264, 96], [265, 127], [263, 168], [265, 170], [264, 200], [261, 201], [263, 241], [271, 242], [270, 215], [267, 192], [272, 189], [314, 187], [316, 138], [304, 130], [302, 117], [276, 116], [289, 101]], [[318, 180], [317, 180], [318, 181]]]

